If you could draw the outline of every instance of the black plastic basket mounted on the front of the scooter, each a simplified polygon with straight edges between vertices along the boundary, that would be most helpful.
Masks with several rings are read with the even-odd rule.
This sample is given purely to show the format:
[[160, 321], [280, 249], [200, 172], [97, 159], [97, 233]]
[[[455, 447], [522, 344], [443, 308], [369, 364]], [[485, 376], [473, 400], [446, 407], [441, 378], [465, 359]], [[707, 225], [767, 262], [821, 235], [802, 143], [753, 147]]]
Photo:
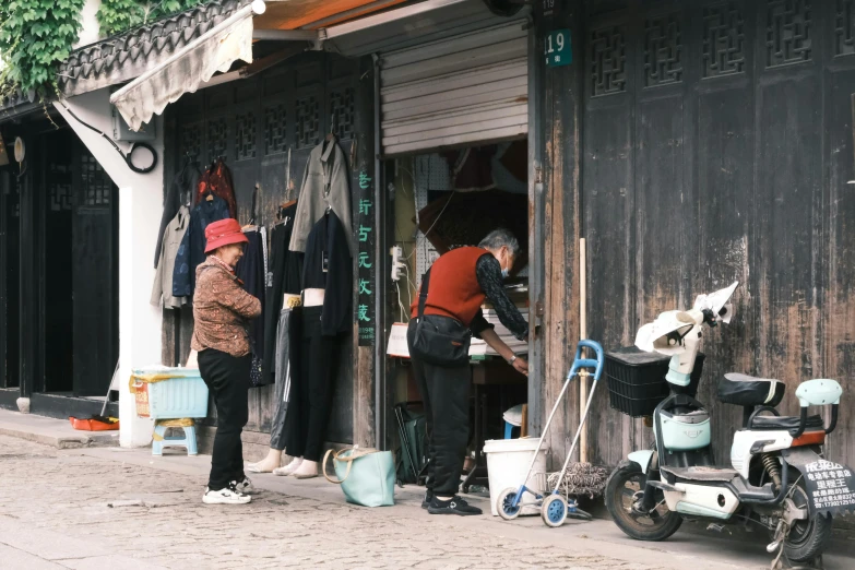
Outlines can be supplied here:
[[672, 389], [694, 397], [703, 360], [703, 354], [699, 353], [689, 385], [680, 388], [670, 387], [665, 380], [670, 356], [645, 353], [634, 346], [606, 353], [605, 372], [611, 407], [632, 417], [652, 416]]

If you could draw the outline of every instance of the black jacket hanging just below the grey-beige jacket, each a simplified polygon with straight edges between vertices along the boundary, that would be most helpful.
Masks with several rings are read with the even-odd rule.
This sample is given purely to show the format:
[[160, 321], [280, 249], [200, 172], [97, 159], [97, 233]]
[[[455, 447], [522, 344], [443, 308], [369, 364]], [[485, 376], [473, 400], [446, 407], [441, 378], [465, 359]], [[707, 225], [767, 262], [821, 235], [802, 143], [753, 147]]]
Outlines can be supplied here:
[[324, 289], [321, 312], [324, 336], [353, 330], [353, 271], [344, 227], [335, 212], [330, 212], [309, 233], [302, 263], [302, 288]]

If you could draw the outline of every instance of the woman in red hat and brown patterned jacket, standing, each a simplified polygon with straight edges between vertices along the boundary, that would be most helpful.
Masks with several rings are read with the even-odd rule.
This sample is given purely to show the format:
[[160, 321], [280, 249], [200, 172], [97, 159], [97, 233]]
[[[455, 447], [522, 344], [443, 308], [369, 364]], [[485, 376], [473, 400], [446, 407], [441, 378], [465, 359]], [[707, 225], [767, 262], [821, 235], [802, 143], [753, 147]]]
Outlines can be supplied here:
[[244, 290], [235, 265], [249, 240], [237, 219], [226, 218], [205, 228], [207, 259], [195, 270], [193, 337], [199, 371], [216, 405], [217, 429], [211, 475], [202, 501], [242, 504], [252, 484], [244, 474], [240, 432], [249, 419], [250, 356], [247, 324], [261, 314], [259, 299]]

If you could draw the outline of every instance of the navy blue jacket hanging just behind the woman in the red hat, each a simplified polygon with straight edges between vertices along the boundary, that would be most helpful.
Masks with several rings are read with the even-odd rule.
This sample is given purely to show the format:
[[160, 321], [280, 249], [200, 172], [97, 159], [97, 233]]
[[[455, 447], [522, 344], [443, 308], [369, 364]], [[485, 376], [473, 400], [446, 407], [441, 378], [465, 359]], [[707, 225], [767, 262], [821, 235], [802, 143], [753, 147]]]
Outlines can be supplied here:
[[174, 297], [192, 297], [195, 289], [195, 269], [205, 260], [205, 228], [212, 222], [229, 217], [226, 201], [216, 195], [212, 198], [210, 201], [202, 199], [190, 212], [190, 225], [175, 258]]

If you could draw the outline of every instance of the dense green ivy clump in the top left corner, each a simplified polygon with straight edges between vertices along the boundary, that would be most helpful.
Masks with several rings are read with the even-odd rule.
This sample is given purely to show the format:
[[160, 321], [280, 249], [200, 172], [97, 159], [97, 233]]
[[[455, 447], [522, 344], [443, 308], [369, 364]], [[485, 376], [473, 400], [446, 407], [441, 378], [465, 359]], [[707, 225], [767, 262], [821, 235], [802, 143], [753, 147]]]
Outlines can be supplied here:
[[[0, 1], [0, 85], [56, 93], [58, 62], [69, 57], [80, 34], [85, 0]], [[8, 88], [8, 87], [7, 87]]]

